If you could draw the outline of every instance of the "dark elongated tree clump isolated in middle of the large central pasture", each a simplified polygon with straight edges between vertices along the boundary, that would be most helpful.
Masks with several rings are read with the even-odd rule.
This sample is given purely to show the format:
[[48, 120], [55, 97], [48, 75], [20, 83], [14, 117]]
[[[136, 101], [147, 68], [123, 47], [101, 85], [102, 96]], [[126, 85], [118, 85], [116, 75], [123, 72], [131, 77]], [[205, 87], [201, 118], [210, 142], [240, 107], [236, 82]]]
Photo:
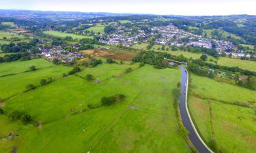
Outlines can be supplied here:
[[117, 94], [111, 97], [102, 97], [100, 102], [102, 103], [102, 105], [113, 105], [114, 103], [119, 103], [124, 101], [125, 98], [126, 98], [125, 95]]

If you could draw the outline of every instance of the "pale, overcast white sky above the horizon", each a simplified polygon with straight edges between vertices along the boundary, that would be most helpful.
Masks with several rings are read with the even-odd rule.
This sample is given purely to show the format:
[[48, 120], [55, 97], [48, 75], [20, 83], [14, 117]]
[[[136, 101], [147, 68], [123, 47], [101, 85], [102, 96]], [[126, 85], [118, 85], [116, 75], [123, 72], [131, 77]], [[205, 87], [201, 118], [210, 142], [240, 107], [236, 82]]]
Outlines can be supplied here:
[[0, 9], [162, 15], [256, 15], [256, 0], [0, 0]]

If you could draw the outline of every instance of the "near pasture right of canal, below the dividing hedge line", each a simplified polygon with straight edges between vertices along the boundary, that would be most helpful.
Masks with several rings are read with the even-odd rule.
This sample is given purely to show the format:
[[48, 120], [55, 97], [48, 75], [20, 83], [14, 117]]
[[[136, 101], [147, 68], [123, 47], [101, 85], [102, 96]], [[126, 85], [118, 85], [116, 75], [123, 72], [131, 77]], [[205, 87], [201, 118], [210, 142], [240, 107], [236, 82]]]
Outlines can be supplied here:
[[189, 107], [206, 143], [214, 139], [221, 152], [255, 152], [253, 109], [197, 97], [190, 97]]

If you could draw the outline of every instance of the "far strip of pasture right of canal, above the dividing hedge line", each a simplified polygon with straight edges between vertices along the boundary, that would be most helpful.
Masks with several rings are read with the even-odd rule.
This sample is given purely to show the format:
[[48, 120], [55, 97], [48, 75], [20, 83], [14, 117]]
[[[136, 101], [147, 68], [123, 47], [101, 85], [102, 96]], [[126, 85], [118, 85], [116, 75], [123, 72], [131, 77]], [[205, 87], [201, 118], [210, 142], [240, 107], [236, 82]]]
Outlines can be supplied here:
[[214, 99], [227, 103], [251, 103], [256, 104], [255, 90], [249, 90], [240, 86], [217, 82], [215, 80], [192, 75], [191, 94], [203, 99]]

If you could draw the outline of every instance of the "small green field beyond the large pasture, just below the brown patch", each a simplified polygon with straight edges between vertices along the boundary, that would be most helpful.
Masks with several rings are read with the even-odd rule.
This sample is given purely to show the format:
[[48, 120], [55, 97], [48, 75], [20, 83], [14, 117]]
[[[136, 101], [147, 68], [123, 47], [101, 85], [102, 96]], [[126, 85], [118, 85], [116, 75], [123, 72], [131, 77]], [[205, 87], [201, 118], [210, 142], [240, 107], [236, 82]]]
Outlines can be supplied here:
[[83, 71], [77, 73], [77, 75], [85, 78], [87, 74], [91, 74], [91, 75], [94, 75], [95, 79], [106, 80], [108, 78], [112, 78], [112, 77], [124, 74], [126, 69], [128, 69], [129, 67], [131, 67], [132, 69], [136, 69], [139, 67], [139, 65], [137, 63], [133, 65], [102, 64], [94, 68], [84, 69]]

